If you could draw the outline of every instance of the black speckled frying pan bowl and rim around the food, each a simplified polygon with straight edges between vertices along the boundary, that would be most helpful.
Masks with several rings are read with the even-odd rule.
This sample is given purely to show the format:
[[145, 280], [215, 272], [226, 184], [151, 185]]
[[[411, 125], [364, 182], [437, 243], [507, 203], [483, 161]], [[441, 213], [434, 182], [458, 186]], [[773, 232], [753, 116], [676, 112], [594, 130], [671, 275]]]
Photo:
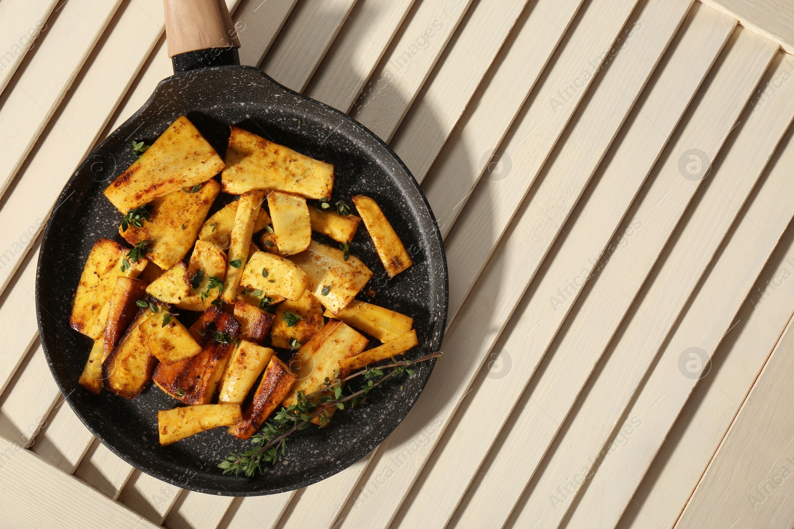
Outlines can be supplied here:
[[220, 153], [229, 125], [237, 124], [333, 163], [334, 198], [367, 194], [376, 199], [409, 248], [414, 266], [388, 279], [363, 225], [352, 253], [375, 273], [372, 301], [414, 317], [420, 347], [411, 351], [413, 358], [441, 347], [448, 295], [441, 235], [416, 181], [391, 149], [345, 114], [279, 86], [252, 67], [212, 67], [165, 79], [138, 113], [91, 152], [60, 195], [40, 251], [37, 309], [50, 369], [77, 416], [125, 461], [185, 489], [230, 496], [299, 489], [345, 469], [383, 441], [422, 392], [434, 362], [418, 365], [410, 379], [376, 389], [364, 408], [338, 412], [330, 427], [293, 435], [287, 456], [250, 479], [224, 476], [216, 466], [230, 451], [250, 447], [225, 428], [160, 447], [156, 412], [179, 402], [155, 385], [128, 401], [108, 392], [97, 397], [77, 384], [91, 339], [69, 328], [71, 300], [94, 241], [124, 242], [118, 236], [121, 213], [102, 190], [135, 159], [133, 140], [151, 143], [183, 113]]

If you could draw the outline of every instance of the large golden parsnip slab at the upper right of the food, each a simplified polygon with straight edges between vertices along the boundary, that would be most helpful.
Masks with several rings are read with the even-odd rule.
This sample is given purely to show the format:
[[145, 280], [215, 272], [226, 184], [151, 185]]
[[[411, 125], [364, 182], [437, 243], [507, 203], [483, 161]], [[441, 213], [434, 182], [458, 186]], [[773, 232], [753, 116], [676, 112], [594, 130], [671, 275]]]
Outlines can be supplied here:
[[223, 190], [243, 194], [250, 190], [278, 190], [306, 198], [330, 197], [333, 165], [274, 144], [242, 128], [232, 127]]

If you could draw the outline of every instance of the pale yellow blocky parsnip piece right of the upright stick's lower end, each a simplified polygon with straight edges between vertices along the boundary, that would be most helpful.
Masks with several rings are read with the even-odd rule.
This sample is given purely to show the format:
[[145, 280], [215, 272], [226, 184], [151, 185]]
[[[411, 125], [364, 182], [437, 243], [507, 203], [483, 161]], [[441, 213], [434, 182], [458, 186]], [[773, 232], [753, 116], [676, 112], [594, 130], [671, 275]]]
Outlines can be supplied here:
[[299, 300], [309, 286], [306, 272], [291, 260], [257, 251], [245, 265], [240, 284], [265, 296]]

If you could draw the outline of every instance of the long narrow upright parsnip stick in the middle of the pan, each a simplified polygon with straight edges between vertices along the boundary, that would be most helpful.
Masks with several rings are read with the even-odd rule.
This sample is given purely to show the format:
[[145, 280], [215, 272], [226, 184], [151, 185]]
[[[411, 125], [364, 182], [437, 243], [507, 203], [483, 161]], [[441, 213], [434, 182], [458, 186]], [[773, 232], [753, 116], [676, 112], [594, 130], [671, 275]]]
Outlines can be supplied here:
[[229, 246], [229, 261], [226, 263], [226, 277], [223, 280], [223, 301], [234, 303], [237, 299], [237, 286], [243, 274], [243, 266], [249, 259], [251, 236], [256, 216], [262, 207], [264, 191], [249, 191], [237, 201], [237, 215], [232, 226], [232, 244]]

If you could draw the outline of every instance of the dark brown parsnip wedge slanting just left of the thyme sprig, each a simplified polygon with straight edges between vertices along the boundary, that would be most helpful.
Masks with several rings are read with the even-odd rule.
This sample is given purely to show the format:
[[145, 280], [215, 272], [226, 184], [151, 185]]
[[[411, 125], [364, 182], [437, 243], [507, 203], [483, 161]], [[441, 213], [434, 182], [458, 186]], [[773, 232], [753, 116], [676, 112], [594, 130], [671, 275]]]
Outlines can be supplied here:
[[272, 355], [253, 401], [245, 408], [242, 420], [229, 427], [229, 433], [238, 439], [250, 439], [278, 408], [294, 384], [295, 375], [279, 357]]

